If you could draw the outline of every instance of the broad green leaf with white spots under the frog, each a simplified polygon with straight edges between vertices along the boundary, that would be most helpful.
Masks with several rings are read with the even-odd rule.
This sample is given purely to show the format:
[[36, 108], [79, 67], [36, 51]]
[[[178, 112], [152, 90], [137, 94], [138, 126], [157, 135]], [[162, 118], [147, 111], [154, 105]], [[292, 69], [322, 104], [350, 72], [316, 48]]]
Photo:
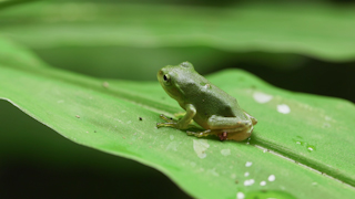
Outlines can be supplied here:
[[240, 70], [207, 78], [258, 119], [250, 143], [158, 129], [160, 114], [182, 111], [158, 82], [57, 70], [0, 39], [0, 98], [68, 139], [156, 168], [193, 197], [354, 196], [354, 104], [283, 91]]

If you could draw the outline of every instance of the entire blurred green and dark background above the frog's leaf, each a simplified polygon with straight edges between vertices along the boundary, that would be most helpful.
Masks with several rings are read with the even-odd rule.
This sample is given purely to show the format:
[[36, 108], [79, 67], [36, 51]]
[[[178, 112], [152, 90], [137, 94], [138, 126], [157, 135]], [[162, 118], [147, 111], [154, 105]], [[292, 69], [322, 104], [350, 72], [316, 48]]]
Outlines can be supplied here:
[[160, 67], [190, 61], [201, 74], [240, 67], [355, 102], [355, 6], [334, 2], [3, 1], [0, 33], [91, 76], [154, 81]]

